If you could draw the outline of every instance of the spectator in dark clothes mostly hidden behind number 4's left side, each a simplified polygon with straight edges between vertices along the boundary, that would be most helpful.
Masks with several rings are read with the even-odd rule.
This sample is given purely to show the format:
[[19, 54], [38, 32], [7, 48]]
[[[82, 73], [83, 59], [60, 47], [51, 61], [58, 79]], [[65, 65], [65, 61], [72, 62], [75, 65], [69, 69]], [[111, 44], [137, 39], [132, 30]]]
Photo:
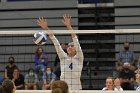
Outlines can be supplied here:
[[[61, 47], [64, 50], [64, 52], [67, 53], [66, 44], [65, 43], [62, 43], [61, 44]], [[58, 55], [55, 58], [54, 66], [55, 66], [55, 72], [54, 73], [55, 73], [55, 75], [57, 77], [57, 80], [60, 80], [61, 68], [60, 68], [60, 59], [59, 59]]]

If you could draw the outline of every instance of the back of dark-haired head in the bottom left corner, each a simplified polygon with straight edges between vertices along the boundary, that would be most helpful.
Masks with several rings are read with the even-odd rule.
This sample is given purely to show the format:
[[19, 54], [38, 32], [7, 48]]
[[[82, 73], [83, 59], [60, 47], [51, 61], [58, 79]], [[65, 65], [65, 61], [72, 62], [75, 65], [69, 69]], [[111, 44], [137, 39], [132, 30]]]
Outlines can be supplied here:
[[[16, 87], [12, 80], [6, 79], [2, 83], [3, 93], [15, 93]], [[1, 92], [0, 92], [1, 93]]]

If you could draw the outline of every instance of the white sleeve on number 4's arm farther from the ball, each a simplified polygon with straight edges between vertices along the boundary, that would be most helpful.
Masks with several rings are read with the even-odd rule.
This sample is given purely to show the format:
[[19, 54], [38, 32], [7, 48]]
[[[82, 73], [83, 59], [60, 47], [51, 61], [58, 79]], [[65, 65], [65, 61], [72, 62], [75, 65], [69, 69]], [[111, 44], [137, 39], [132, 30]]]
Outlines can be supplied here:
[[83, 56], [83, 51], [81, 49], [81, 46], [79, 44], [78, 38], [77, 36], [75, 36], [73, 38], [73, 42], [74, 42], [74, 47], [76, 48], [76, 56], [77, 58], [80, 60], [80, 62], [83, 62], [84, 56]]

